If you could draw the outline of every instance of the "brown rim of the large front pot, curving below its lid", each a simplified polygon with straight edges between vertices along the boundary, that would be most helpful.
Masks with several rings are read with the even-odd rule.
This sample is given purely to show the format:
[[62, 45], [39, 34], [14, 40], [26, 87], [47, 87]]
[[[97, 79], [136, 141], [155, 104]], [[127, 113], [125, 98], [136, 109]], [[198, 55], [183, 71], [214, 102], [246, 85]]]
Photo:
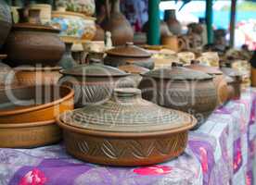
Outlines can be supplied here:
[[58, 126], [61, 129], [66, 129], [72, 132], [84, 134], [84, 135], [93, 135], [96, 137], [111, 137], [111, 138], [138, 138], [138, 137], [155, 137], [168, 135], [173, 133], [179, 133], [183, 131], [188, 131], [189, 129], [194, 128], [198, 121], [195, 117], [191, 117], [191, 124], [187, 126], [178, 127], [176, 129], [165, 129], [158, 131], [147, 131], [147, 132], [113, 132], [113, 131], [100, 131], [95, 129], [80, 129], [78, 127], [73, 127], [65, 124], [62, 120], [60, 120], [60, 115], [56, 117]]

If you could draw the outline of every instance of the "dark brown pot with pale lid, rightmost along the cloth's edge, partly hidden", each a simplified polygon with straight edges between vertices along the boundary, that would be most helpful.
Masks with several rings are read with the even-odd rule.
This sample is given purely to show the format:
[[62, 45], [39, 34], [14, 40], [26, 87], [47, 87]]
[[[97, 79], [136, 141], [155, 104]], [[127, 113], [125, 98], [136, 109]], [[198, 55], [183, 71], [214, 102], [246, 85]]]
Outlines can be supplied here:
[[224, 75], [230, 80], [226, 80], [230, 91], [232, 91], [231, 99], [239, 99], [241, 95], [242, 75], [235, 68], [221, 68]]

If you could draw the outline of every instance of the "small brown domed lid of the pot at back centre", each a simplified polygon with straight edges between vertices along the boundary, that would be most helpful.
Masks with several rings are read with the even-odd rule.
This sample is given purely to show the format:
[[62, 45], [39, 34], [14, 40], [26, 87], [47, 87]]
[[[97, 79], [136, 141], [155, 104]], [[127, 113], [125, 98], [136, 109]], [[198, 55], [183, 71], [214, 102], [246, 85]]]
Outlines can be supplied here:
[[151, 55], [143, 48], [134, 45], [134, 43], [126, 43], [122, 46], [117, 46], [106, 52], [109, 56], [122, 57], [150, 57]]

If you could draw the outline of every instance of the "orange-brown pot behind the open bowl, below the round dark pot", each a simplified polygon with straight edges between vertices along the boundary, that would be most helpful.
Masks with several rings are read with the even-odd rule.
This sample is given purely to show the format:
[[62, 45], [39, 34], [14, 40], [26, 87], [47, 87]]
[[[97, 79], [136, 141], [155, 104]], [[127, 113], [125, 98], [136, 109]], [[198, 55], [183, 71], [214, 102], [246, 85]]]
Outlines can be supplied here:
[[60, 67], [53, 68], [15, 68], [15, 74], [22, 85], [55, 85], [62, 76]]

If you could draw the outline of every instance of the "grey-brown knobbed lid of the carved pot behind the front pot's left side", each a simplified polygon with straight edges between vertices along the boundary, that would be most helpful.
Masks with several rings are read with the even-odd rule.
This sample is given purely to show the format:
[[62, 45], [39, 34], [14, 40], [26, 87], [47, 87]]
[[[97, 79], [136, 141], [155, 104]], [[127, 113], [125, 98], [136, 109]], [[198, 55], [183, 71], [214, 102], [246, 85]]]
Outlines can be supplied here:
[[90, 62], [91, 64], [79, 65], [74, 68], [60, 70], [60, 73], [64, 75], [83, 77], [124, 77], [129, 75], [129, 73], [126, 73], [119, 68], [113, 68], [101, 64], [100, 60], [90, 59]]

